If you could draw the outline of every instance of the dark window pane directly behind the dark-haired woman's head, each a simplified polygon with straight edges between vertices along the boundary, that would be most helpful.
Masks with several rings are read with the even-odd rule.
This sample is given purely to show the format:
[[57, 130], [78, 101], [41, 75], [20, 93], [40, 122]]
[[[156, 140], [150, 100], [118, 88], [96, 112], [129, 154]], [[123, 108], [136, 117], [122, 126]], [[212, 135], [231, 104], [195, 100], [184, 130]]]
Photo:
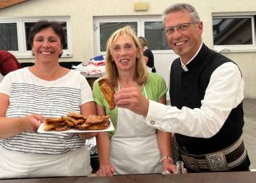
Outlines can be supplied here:
[[[61, 24], [61, 27], [64, 30], [64, 35], [65, 35], [65, 41], [66, 41], [66, 45], [64, 45], [63, 50], [67, 50], [68, 49], [68, 43], [67, 43], [67, 22], [58, 22], [59, 24]], [[25, 35], [26, 35], [26, 50], [31, 50], [31, 45], [28, 41], [28, 36], [30, 34], [30, 29], [31, 27], [33, 27], [33, 25], [35, 24], [35, 22], [25, 22]]]

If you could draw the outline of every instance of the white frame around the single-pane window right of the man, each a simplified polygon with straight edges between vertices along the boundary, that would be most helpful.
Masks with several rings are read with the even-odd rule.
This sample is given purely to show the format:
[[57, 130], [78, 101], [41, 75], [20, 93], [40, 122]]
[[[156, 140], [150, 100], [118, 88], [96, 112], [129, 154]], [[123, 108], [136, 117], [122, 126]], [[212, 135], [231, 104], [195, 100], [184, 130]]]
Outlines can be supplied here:
[[252, 45], [214, 45], [213, 49], [220, 53], [239, 53], [239, 52], [256, 52], [256, 32], [255, 32], [255, 13], [213, 13], [212, 14], [212, 40], [213, 40], [213, 19], [219, 18], [250, 18], [252, 19]]

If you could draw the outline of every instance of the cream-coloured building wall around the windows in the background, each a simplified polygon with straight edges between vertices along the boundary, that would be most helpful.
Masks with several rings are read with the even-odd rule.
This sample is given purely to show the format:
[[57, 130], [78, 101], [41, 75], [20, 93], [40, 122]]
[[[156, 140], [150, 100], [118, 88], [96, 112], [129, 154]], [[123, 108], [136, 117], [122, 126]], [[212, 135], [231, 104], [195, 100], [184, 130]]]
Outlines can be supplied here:
[[[142, 0], [148, 2], [148, 11], [135, 12], [137, 0], [30, 0], [22, 4], [0, 9], [0, 17], [41, 17], [70, 16], [72, 36], [72, 58], [61, 61], [88, 61], [94, 55], [93, 17], [94, 16], [129, 16], [162, 14], [163, 10], [177, 1]], [[204, 24], [202, 38], [208, 47], [213, 48], [212, 13], [216, 12], [256, 12], [255, 0], [197, 0], [179, 1], [195, 6]], [[256, 53], [224, 53], [236, 62], [244, 76], [244, 97], [256, 98]], [[21, 59], [21, 62], [33, 61]], [[159, 71], [161, 72], [161, 71]]]

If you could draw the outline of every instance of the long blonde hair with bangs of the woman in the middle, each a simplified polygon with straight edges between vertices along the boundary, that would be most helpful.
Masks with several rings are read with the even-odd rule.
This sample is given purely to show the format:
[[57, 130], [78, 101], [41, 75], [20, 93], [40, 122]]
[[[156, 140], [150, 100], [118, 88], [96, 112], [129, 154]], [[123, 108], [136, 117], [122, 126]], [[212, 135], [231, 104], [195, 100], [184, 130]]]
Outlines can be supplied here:
[[140, 49], [140, 42], [137, 39], [137, 36], [135, 35], [135, 31], [132, 30], [132, 27], [125, 26], [122, 27], [119, 30], [116, 30], [111, 37], [108, 38], [107, 46], [106, 46], [106, 78], [111, 82], [111, 84], [114, 84], [114, 86], [117, 85], [117, 82], [119, 80], [118, 71], [116, 67], [116, 63], [114, 62], [114, 58], [112, 58], [111, 51], [116, 43], [116, 40], [120, 36], [127, 36], [132, 38], [132, 40], [135, 43], [135, 46], [137, 48], [137, 55], [138, 58], [136, 58], [136, 66], [135, 66], [135, 77], [136, 82], [139, 85], [145, 84], [146, 81], [148, 81], [148, 71], [145, 65], [145, 61], [142, 55], [142, 50]]

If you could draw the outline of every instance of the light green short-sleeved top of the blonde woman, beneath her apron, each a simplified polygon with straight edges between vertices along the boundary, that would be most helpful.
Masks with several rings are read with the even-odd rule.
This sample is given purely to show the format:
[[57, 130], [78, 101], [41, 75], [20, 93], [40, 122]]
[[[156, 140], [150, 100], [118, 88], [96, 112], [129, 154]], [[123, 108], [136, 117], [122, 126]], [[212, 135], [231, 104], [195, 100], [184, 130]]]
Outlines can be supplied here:
[[[95, 102], [105, 109], [106, 115], [110, 115], [114, 128], [116, 128], [118, 107], [116, 107], [114, 110], [109, 110], [108, 103], [104, 99], [103, 94], [101, 94], [101, 89], [98, 84], [98, 81], [101, 79], [102, 78], [97, 79], [93, 84], [93, 97]], [[147, 91], [148, 99], [158, 101], [161, 99], [161, 97], [163, 97], [164, 94], [166, 94], [168, 88], [162, 76], [160, 76], [158, 73], [148, 73], [148, 81], [145, 84], [145, 90]], [[141, 93], [145, 96], [143, 89], [141, 90]], [[113, 134], [114, 132], [112, 132], [112, 135]]]

